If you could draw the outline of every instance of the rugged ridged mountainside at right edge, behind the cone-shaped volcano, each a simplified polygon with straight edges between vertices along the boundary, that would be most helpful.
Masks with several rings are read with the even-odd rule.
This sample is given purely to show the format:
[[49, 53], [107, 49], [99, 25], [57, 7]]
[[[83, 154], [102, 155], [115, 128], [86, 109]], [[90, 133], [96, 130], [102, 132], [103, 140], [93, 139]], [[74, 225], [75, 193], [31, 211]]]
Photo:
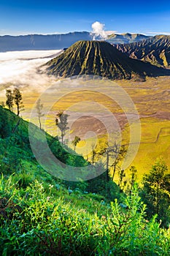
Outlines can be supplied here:
[[170, 36], [155, 36], [141, 42], [117, 45], [117, 49], [134, 59], [148, 61], [158, 67], [170, 67]]

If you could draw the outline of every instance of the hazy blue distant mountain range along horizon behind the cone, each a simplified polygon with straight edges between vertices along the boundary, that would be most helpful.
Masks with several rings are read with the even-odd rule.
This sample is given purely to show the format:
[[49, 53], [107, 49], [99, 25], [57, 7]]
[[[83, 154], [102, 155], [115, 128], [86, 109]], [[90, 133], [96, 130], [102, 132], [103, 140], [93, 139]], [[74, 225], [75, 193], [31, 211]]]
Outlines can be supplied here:
[[[0, 36], [0, 52], [10, 50], [55, 50], [68, 48], [80, 40], [92, 40], [94, 34], [87, 31], [68, 34], [29, 34], [26, 36]], [[112, 34], [107, 42], [129, 43], [146, 39], [143, 34]], [[96, 39], [101, 39], [96, 37]]]

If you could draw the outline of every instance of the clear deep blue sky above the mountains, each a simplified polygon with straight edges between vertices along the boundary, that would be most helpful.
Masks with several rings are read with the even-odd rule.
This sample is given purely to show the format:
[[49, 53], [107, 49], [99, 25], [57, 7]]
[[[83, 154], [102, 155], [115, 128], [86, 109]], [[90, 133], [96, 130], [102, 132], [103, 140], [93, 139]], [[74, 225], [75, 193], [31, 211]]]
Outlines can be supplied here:
[[91, 31], [99, 21], [117, 33], [170, 34], [170, 0], [0, 0], [0, 34]]

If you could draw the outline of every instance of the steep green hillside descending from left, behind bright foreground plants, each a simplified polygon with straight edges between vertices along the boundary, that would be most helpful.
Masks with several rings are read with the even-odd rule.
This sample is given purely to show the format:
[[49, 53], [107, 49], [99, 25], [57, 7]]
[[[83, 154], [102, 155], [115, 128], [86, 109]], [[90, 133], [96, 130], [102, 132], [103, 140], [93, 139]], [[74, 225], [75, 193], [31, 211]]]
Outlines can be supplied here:
[[[39, 132], [36, 132], [36, 130], [39, 130], [39, 128], [34, 124], [32, 124], [32, 126], [34, 127], [34, 143], [43, 149], [41, 152], [39, 152], [39, 154], [41, 154], [41, 157], [43, 157], [45, 161], [48, 161], [47, 151], [45, 148], [47, 144], [44, 144], [41, 136], [38, 137]], [[71, 148], [67, 148], [66, 146], [63, 148], [58, 139], [53, 138], [47, 133], [45, 133], [45, 135], [48, 146], [51, 150], [50, 154], [53, 153], [56, 159], [68, 166], [68, 168], [62, 168], [61, 165], [60, 168], [58, 165], [58, 173], [60, 173], [60, 178], [58, 178], [58, 175], [55, 175], [52, 170], [48, 170], [48, 172], [46, 172], [36, 161], [36, 158], [31, 151], [28, 135], [28, 122], [24, 121], [19, 116], [16, 116], [15, 113], [12, 113], [11, 111], [0, 106], [0, 173], [4, 173], [5, 176], [16, 173], [23, 186], [28, 185], [29, 182], [34, 181], [34, 179], [37, 178], [40, 182], [43, 181], [43, 183], [47, 181], [45, 182], [46, 185], [48, 185], [48, 181], [55, 181], [58, 184], [62, 184], [65, 188], [80, 187], [82, 191], [85, 190], [95, 193], [98, 192], [99, 189], [99, 194], [105, 196], [107, 182], [106, 172], [90, 181], [64, 181], [62, 175], [65, 175], [66, 171], [69, 171], [69, 176], [71, 176], [70, 166], [80, 167], [81, 171], [81, 167], [89, 165], [89, 162], [87, 162], [82, 156], [75, 154]], [[91, 170], [90, 167], [94, 168], [93, 171], [97, 171], [93, 165], [89, 165], [88, 171]], [[55, 165], [55, 169], [56, 168], [57, 166]], [[82, 170], [82, 175], [87, 178], [89, 172], [85, 173], [85, 171], [83, 172]], [[112, 182], [112, 188], [117, 192], [119, 191], [114, 182]], [[115, 195], [117, 195], [117, 192]], [[106, 197], [109, 198], [110, 195], [107, 193]]]

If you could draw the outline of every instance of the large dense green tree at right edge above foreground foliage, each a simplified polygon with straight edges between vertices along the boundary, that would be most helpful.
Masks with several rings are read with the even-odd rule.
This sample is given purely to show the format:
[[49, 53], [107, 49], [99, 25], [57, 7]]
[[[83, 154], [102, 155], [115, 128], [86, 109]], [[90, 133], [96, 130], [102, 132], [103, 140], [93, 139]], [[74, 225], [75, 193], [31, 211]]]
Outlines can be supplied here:
[[150, 173], [143, 177], [142, 200], [147, 204], [147, 216], [157, 214], [163, 225], [170, 222], [170, 175], [162, 160], [152, 165]]

